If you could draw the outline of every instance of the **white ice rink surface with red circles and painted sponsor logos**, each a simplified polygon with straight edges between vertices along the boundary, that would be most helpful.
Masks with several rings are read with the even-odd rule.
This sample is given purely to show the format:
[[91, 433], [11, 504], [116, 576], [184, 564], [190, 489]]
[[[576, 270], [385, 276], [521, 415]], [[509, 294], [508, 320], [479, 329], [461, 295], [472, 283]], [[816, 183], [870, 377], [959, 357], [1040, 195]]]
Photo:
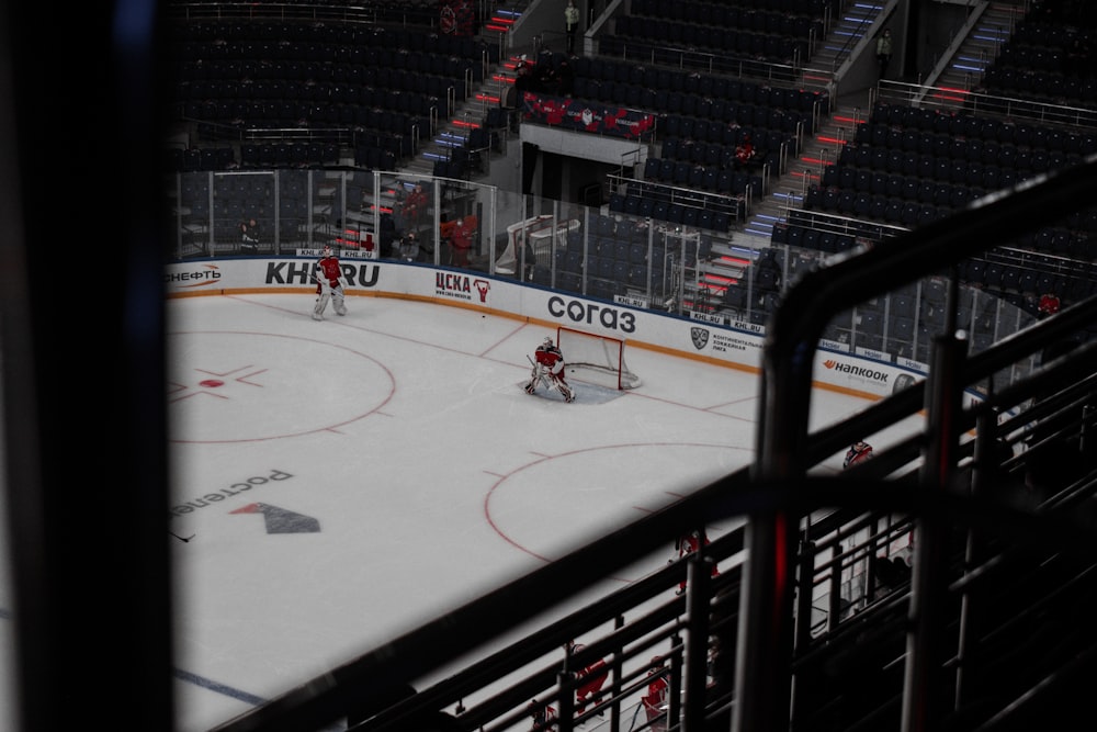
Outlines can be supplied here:
[[[304, 294], [168, 303], [180, 732], [751, 460], [755, 373], [630, 346], [638, 388], [580, 383], [565, 404], [521, 388], [550, 329], [405, 300], [347, 304], [314, 322]], [[811, 429], [864, 406], [816, 390]]]

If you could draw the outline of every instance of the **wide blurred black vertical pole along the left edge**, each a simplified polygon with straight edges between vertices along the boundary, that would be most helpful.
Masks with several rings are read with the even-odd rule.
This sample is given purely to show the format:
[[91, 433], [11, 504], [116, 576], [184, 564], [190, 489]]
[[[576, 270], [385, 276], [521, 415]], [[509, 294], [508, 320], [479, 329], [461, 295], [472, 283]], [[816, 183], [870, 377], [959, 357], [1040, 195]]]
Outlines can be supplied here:
[[[30, 317], [26, 348], [5, 344], [4, 362], [20, 359], [34, 375], [18, 385], [21, 414], [5, 419], [19, 421], [4, 430], [5, 439], [25, 430], [15, 447], [33, 450], [9, 483], [20, 729], [80, 729], [126, 689], [111, 727], [170, 730], [169, 241], [157, 165], [158, 93], [170, 85], [157, 78], [157, 4], [79, 3], [64, 19], [43, 3], [3, 12], [12, 79], [3, 106], [18, 148], [4, 158], [20, 166], [4, 198], [27, 224]], [[93, 112], [69, 109], [75, 78]], [[69, 185], [78, 194], [63, 195]], [[109, 278], [76, 274], [97, 258], [110, 262]], [[93, 348], [73, 340], [80, 329], [94, 333]]]

